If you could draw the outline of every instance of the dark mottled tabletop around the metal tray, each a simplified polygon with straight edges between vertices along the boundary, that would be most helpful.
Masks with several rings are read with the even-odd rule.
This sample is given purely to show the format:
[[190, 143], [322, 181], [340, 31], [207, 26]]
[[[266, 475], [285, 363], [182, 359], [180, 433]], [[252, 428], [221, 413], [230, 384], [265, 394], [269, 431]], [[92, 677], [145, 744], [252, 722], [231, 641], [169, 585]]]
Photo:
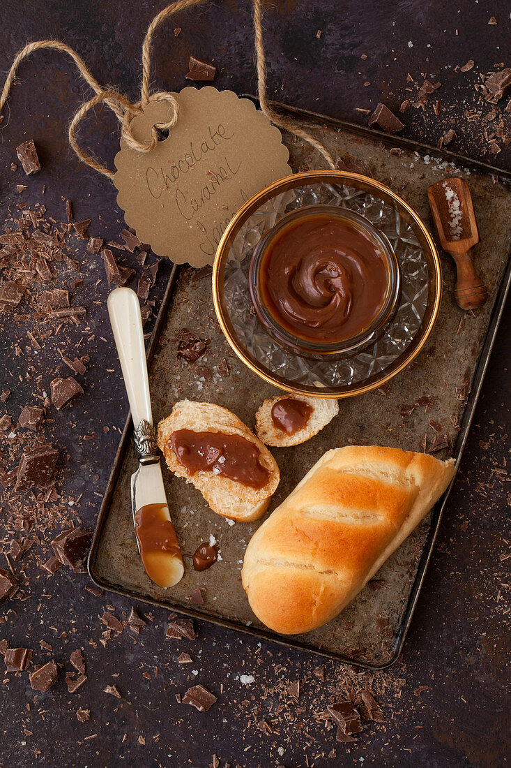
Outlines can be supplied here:
[[[48, 0], [44, 4], [7, 0], [0, 9], [0, 68], [8, 69], [25, 41], [59, 38], [81, 53], [99, 81], [116, 84], [136, 98], [143, 32], [161, 7], [133, 0]], [[496, 17], [497, 25], [487, 24], [490, 16]], [[177, 26], [182, 31], [175, 38]], [[269, 91], [274, 98], [348, 121], [365, 122], [367, 118], [354, 108], [374, 108], [380, 100], [397, 110], [408, 95], [404, 91], [408, 71], [416, 81], [422, 81], [422, 74], [440, 80], [440, 118], [430, 107], [424, 112], [410, 109], [403, 118], [403, 135], [436, 144], [447, 128], [454, 127], [458, 139], [450, 148], [489, 160], [480, 121], [467, 120], [465, 110], [476, 105], [473, 84], [479, 72], [490, 71], [499, 61], [511, 65], [506, 0], [454, 5], [437, 0], [275, 2], [265, 17], [265, 41]], [[362, 54], [368, 56], [366, 61], [361, 60]], [[255, 91], [249, 3], [213, 2], [176, 18], [175, 23], [167, 22], [154, 48], [155, 87], [179, 89], [187, 84], [189, 55], [213, 61], [219, 68], [217, 87], [238, 93]], [[473, 70], [455, 71], [469, 58], [476, 62]], [[371, 84], [364, 86], [364, 82]], [[65, 137], [68, 120], [85, 94], [74, 65], [64, 55], [42, 51], [21, 66], [19, 84], [5, 110], [7, 124], [0, 130], [5, 169], [0, 177], [2, 215], [7, 219], [9, 206], [18, 201], [15, 184], [28, 184], [23, 197], [28, 204], [44, 201], [48, 213], [63, 220], [63, 200], [69, 197], [76, 220], [93, 220], [91, 234], [117, 240], [123, 227], [114, 187], [78, 164]], [[81, 137], [111, 167], [116, 126], [101, 108], [96, 112], [97, 119], [87, 122]], [[43, 170], [27, 181], [21, 171], [12, 174], [9, 167], [16, 160], [15, 147], [28, 137], [40, 149]], [[493, 164], [511, 170], [511, 149], [503, 149]], [[47, 185], [44, 199], [43, 184]], [[76, 246], [77, 252], [80, 247]], [[85, 281], [74, 303], [87, 304], [91, 332], [83, 335], [90, 339], [94, 333], [95, 338], [84, 339], [81, 353], [91, 356], [91, 365], [81, 377], [85, 395], [72, 409], [53, 411], [54, 422], [47, 423], [45, 430], [61, 450], [59, 491], [63, 498], [84, 494], [77, 514], [93, 528], [119, 436], [112, 427], [123, 425], [127, 402], [107, 325], [103, 266], [86, 257], [83, 248], [79, 258], [84, 262]], [[130, 259], [127, 254], [126, 263]], [[154, 298], [164, 277], [165, 270]], [[30, 325], [13, 324], [5, 315], [1, 322], [5, 329], [2, 386], [13, 390], [2, 413], [8, 412], [16, 421], [18, 406], [25, 405], [34, 391], [32, 382], [18, 382], [18, 374], [23, 377], [27, 365], [34, 364], [48, 387], [64, 369], [51, 344], [37, 358], [30, 350], [23, 358], [15, 358], [14, 341], [25, 339]], [[74, 332], [69, 349], [76, 346], [82, 331]], [[107, 434], [104, 425], [110, 427]], [[87, 577], [74, 576], [64, 568], [45, 578], [27, 555], [21, 565], [27, 564], [28, 584], [18, 574], [21, 596], [27, 599], [2, 604], [0, 616], [5, 621], [0, 624], [0, 639], [8, 637], [13, 646], [34, 648], [35, 663], [54, 657], [67, 668], [70, 651], [81, 647], [88, 680], [76, 694], [68, 694], [61, 672], [55, 687], [37, 695], [29, 686], [28, 673], [5, 675], [0, 685], [0, 765], [205, 768], [216, 753], [222, 766], [238, 763], [243, 768], [502, 766], [509, 753], [505, 693], [509, 560], [501, 561], [509, 554], [511, 536], [506, 484], [509, 431], [508, 304], [402, 660], [375, 681], [386, 689], [378, 696], [387, 717], [385, 727], [370, 723], [358, 743], [348, 745], [351, 748], [336, 745], [335, 731], [326, 733], [315, 723], [313, 713], [324, 709], [328, 696], [335, 693], [344, 674], [339, 665], [325, 664], [327, 680], [321, 685], [311, 677], [320, 663], [317, 659], [266, 643], [259, 647], [249, 637], [208, 624], [198, 626], [194, 643], [183, 642], [178, 648], [163, 641], [165, 611], [152, 611], [153, 621], [136, 644], [124, 631], [104, 649], [97, 644], [104, 629], [98, 616], [110, 604], [122, 617], [130, 604], [114, 595], [94, 598], [84, 591]], [[84, 440], [84, 435], [93, 436]], [[493, 472], [495, 468], [505, 472]], [[0, 522], [7, 515], [3, 505]], [[21, 565], [16, 564], [17, 571]], [[147, 614], [143, 606], [139, 609]], [[59, 637], [63, 631], [67, 637]], [[39, 650], [40, 640], [53, 645], [52, 654]], [[193, 664], [176, 664], [181, 650], [190, 653]], [[275, 663], [285, 665], [285, 672], [275, 672]], [[190, 667], [198, 671], [196, 676]], [[143, 677], [144, 672], [150, 679]], [[243, 687], [236, 679], [239, 674], [254, 674], [255, 683]], [[275, 687], [279, 677], [305, 680], [299, 702], [305, 705], [304, 712], [296, 715], [297, 705]], [[174, 697], [197, 681], [219, 696], [209, 713], [184, 707]], [[124, 700], [102, 692], [106, 684], [114, 683]], [[420, 690], [424, 686], [427, 689]], [[265, 687], [272, 689], [267, 699], [262, 698]], [[396, 696], [397, 690], [401, 697]], [[250, 711], [259, 703], [265, 710], [279, 701], [285, 707], [275, 733], [267, 736], [256, 727], [262, 715], [251, 717]], [[78, 723], [78, 707], [90, 708], [91, 720]], [[336, 756], [329, 757], [332, 749]]]

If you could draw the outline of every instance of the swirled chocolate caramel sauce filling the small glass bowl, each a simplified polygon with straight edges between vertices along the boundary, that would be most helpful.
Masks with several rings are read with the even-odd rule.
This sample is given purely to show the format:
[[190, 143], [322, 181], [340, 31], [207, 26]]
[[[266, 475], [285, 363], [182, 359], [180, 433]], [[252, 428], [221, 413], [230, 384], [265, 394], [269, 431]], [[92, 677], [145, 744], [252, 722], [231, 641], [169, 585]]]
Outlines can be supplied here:
[[351, 339], [384, 304], [387, 268], [374, 243], [348, 221], [311, 214], [270, 240], [262, 297], [288, 333], [318, 343]]

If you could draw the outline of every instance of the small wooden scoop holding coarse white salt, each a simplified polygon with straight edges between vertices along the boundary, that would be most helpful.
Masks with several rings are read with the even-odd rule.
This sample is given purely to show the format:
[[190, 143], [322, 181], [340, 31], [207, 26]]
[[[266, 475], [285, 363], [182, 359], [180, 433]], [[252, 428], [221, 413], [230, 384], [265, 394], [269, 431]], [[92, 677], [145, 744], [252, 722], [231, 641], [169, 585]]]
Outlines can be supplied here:
[[431, 213], [443, 250], [456, 262], [454, 298], [462, 310], [476, 310], [488, 298], [483, 280], [473, 268], [471, 250], [479, 243], [476, 214], [464, 179], [453, 177], [428, 187]]

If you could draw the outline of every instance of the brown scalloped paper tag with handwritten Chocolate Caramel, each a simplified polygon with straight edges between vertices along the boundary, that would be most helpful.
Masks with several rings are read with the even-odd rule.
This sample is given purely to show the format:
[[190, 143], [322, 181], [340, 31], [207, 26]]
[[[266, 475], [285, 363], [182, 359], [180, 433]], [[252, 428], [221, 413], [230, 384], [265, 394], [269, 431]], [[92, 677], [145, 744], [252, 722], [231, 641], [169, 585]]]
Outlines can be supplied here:
[[[252, 101], [233, 91], [183, 88], [169, 136], [150, 152], [120, 141], [115, 157], [117, 204], [154, 253], [174, 263], [212, 264], [229, 221], [249, 197], [292, 173], [282, 135]], [[139, 141], [170, 119], [166, 101], [151, 101], [131, 123]]]

